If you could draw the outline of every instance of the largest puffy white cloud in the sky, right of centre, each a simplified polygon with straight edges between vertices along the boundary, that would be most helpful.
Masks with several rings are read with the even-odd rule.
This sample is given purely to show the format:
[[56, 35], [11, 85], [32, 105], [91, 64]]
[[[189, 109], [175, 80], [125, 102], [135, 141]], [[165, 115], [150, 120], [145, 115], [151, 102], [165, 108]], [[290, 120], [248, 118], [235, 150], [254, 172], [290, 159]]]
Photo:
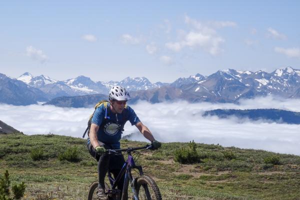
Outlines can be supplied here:
[[167, 42], [165, 46], [173, 51], [180, 51], [184, 47], [200, 47], [212, 55], [222, 51], [220, 45], [225, 40], [216, 32], [216, 28], [233, 27], [236, 25], [232, 21], [210, 21], [207, 24], [185, 16], [185, 23], [192, 27], [185, 33], [183, 38], [175, 42]]

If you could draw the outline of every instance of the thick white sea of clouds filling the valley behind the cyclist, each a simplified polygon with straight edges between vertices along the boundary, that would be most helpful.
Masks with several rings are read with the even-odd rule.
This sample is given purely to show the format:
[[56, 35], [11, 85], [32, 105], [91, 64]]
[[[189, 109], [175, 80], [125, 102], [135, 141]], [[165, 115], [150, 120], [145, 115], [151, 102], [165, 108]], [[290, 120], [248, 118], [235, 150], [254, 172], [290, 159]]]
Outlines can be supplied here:
[[[156, 103], [140, 101], [131, 105], [140, 120], [162, 142], [190, 141], [223, 146], [264, 149], [300, 155], [300, 125], [276, 123], [269, 120], [250, 120], [217, 116], [203, 117], [206, 110], [277, 108], [300, 112], [296, 99], [276, 99], [272, 96], [243, 99], [232, 103]], [[93, 108], [61, 108], [53, 105], [14, 106], [0, 104], [0, 120], [25, 134], [47, 134], [81, 137]], [[124, 135], [136, 133], [129, 122]], [[134, 134], [134, 140], [146, 140]]]

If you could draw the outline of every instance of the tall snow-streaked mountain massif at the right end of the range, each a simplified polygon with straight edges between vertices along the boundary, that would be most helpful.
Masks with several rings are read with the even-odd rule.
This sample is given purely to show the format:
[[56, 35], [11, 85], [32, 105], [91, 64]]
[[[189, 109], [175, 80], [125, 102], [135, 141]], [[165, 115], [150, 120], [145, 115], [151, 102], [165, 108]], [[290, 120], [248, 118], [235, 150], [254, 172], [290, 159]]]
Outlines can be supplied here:
[[185, 85], [182, 89], [195, 92], [202, 100], [234, 102], [239, 98], [257, 95], [293, 95], [300, 87], [300, 70], [286, 67], [271, 73], [264, 71], [218, 70], [197, 83]]

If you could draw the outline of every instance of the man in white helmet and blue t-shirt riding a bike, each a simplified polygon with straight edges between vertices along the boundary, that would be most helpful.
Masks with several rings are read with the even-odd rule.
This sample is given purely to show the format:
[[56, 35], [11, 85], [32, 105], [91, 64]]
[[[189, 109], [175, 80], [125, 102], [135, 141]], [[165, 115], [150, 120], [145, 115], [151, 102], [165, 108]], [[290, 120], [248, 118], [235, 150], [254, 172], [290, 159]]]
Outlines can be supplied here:
[[[105, 196], [104, 178], [109, 169], [116, 178], [125, 160], [122, 155], [108, 155], [105, 149], [119, 149], [121, 133], [127, 120], [135, 125], [145, 138], [151, 141], [153, 149], [161, 143], [156, 141], [150, 130], [139, 120], [134, 110], [126, 105], [130, 95], [122, 86], [113, 86], [108, 94], [109, 103], [100, 105], [91, 119], [87, 148], [89, 153], [98, 161], [98, 199], [107, 200]], [[117, 188], [122, 190], [124, 175]]]

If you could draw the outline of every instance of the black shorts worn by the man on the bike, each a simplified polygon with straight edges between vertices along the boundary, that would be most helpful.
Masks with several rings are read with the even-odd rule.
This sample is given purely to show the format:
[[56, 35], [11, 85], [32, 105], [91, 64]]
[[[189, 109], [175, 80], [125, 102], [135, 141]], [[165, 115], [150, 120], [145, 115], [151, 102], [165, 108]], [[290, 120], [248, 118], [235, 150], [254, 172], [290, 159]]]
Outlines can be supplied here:
[[[109, 144], [104, 144], [104, 148], [111, 149], [112, 147]], [[93, 156], [97, 161], [99, 161], [100, 155], [95, 151], [94, 147], [91, 145], [90, 142], [87, 144], [87, 149], [89, 154]], [[109, 166], [108, 166], [109, 170], [121, 169], [125, 163], [125, 159], [122, 154], [109, 155], [108, 159], [109, 159]]]

